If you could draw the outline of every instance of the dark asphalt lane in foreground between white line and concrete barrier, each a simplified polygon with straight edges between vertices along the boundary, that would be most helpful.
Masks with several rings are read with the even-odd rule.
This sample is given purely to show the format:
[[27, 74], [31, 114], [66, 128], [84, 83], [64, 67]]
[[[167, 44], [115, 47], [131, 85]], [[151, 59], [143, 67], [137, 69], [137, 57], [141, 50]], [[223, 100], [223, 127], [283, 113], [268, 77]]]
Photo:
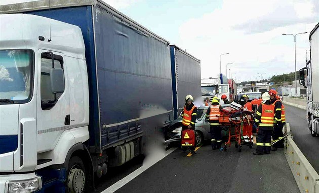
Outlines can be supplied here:
[[261, 156], [254, 149], [205, 145], [190, 157], [177, 149], [116, 192], [299, 192], [283, 149]]

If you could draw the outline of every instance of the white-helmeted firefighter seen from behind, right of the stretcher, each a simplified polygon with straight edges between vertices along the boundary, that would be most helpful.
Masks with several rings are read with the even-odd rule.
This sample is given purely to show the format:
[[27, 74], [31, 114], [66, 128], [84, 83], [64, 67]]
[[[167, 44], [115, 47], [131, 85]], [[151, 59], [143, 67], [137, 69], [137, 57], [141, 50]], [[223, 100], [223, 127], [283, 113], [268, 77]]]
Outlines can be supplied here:
[[271, 150], [271, 135], [274, 127], [275, 105], [270, 101], [269, 93], [264, 93], [266, 99], [259, 105], [256, 117], [255, 126], [259, 126], [256, 138], [256, 151], [254, 155], [270, 154]]

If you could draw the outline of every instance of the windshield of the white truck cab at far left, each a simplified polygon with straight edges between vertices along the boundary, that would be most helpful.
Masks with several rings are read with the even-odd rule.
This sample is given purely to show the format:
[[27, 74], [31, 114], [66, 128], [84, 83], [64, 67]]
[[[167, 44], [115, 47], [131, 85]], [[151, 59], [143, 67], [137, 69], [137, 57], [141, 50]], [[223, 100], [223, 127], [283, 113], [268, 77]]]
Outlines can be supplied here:
[[31, 50], [0, 50], [0, 105], [30, 101], [33, 58]]

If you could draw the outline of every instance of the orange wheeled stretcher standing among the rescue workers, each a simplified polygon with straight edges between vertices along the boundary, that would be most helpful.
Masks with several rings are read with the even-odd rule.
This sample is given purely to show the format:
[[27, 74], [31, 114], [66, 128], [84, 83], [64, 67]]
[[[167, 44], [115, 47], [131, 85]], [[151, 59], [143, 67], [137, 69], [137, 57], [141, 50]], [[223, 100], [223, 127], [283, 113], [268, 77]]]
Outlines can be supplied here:
[[[227, 151], [227, 146], [231, 146], [231, 139], [235, 139], [235, 147], [238, 151], [242, 151], [242, 132], [243, 126], [253, 124], [253, 111], [242, 110], [242, 108], [232, 108], [231, 106], [221, 109], [219, 116], [219, 124], [224, 129], [228, 129], [228, 141], [225, 143], [224, 151]], [[234, 128], [234, 133], [232, 129]], [[249, 135], [249, 147], [253, 147], [251, 137]]]

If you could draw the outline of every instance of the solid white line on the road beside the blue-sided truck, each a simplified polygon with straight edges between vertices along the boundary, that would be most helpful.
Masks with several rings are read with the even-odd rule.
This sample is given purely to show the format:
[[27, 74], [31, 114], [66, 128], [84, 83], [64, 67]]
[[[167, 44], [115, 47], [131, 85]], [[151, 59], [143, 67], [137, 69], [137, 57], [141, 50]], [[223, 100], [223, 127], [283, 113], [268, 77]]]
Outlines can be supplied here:
[[137, 170], [133, 171], [132, 173], [130, 173], [129, 175], [127, 175], [126, 177], [124, 177], [123, 179], [119, 180], [118, 182], [114, 183], [112, 186], [108, 187], [107, 189], [105, 189], [104, 191], [102, 191], [101, 193], [111, 193], [111, 192], [115, 192], [116, 190], [118, 190], [119, 188], [121, 188], [122, 186], [124, 186], [125, 184], [129, 183], [131, 180], [133, 180], [135, 177], [137, 177], [138, 175], [140, 175], [141, 173], [143, 173], [145, 170], [147, 170], [148, 168], [150, 168], [152, 165], [154, 165], [155, 163], [157, 163], [158, 161], [162, 160], [163, 158], [165, 158], [166, 156], [168, 156], [170, 153], [172, 153], [174, 150], [176, 150], [177, 147], [175, 148], [170, 148], [169, 150], [167, 150], [165, 152], [164, 155], [161, 155], [160, 157], [158, 157], [157, 159], [151, 160], [149, 163], [145, 164], [143, 163], [143, 165], [138, 168]]

